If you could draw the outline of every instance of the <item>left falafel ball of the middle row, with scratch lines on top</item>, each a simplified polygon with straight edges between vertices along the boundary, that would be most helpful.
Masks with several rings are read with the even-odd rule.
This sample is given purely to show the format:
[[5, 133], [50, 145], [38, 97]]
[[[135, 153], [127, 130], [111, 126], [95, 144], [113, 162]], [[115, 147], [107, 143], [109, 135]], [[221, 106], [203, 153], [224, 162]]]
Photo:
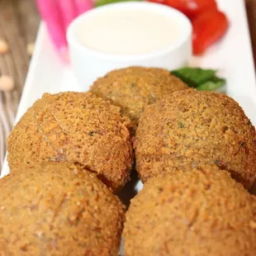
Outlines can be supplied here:
[[97, 173], [113, 190], [130, 179], [130, 120], [89, 92], [45, 93], [14, 127], [8, 162], [17, 171], [43, 161], [68, 161]]

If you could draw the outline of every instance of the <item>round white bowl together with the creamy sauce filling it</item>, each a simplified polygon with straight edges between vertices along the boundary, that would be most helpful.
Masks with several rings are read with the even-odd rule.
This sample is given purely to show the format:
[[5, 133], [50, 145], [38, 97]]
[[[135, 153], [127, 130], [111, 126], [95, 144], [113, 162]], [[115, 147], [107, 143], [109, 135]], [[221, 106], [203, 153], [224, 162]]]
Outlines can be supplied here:
[[81, 88], [113, 69], [178, 69], [192, 57], [192, 24], [182, 12], [154, 2], [93, 8], [69, 25], [69, 56]]

